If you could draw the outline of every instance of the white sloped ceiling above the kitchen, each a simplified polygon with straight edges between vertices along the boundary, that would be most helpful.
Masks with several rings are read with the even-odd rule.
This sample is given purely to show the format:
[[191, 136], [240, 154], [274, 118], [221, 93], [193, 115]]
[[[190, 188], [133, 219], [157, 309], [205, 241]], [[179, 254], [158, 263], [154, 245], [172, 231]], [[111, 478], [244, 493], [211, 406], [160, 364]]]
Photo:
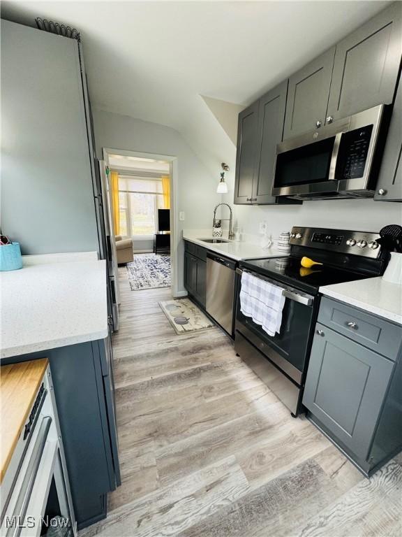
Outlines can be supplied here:
[[95, 106], [174, 127], [221, 162], [219, 148], [207, 152], [223, 129], [201, 96], [250, 103], [387, 3], [3, 1], [1, 11], [76, 27]]

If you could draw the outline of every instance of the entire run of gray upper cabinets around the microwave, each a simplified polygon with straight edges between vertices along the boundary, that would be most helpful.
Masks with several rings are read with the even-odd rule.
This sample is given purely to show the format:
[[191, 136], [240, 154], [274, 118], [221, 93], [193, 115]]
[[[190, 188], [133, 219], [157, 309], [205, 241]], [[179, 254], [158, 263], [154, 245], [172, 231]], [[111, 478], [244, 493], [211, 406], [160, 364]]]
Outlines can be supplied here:
[[[380, 103], [394, 103], [401, 34], [396, 2], [239, 114], [234, 203], [300, 203], [271, 195], [276, 145]], [[400, 108], [399, 95], [379, 187], [381, 199], [390, 201], [402, 197]]]

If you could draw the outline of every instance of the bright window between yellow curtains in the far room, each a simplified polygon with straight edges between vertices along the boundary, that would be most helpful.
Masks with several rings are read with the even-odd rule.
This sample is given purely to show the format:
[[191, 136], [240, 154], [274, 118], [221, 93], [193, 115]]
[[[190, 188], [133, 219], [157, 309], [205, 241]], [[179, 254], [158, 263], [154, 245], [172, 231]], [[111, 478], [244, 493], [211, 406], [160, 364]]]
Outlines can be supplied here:
[[163, 208], [161, 179], [119, 176], [120, 235], [154, 235]]

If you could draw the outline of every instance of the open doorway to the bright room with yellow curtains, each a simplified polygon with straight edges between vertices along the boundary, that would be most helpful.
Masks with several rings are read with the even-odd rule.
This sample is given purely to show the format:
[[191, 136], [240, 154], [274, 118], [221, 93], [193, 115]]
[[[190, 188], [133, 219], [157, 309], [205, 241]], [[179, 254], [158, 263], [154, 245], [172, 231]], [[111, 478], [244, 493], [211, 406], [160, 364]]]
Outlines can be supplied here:
[[103, 158], [119, 266], [133, 291], [170, 287], [174, 296], [176, 157], [104, 148]]

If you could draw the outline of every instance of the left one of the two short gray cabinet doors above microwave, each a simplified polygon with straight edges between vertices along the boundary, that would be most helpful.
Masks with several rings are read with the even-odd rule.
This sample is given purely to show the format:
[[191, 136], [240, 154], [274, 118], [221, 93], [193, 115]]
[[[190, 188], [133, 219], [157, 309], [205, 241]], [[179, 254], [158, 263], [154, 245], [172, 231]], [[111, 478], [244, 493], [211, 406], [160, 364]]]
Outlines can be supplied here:
[[325, 124], [334, 56], [335, 47], [290, 77], [283, 139]]

